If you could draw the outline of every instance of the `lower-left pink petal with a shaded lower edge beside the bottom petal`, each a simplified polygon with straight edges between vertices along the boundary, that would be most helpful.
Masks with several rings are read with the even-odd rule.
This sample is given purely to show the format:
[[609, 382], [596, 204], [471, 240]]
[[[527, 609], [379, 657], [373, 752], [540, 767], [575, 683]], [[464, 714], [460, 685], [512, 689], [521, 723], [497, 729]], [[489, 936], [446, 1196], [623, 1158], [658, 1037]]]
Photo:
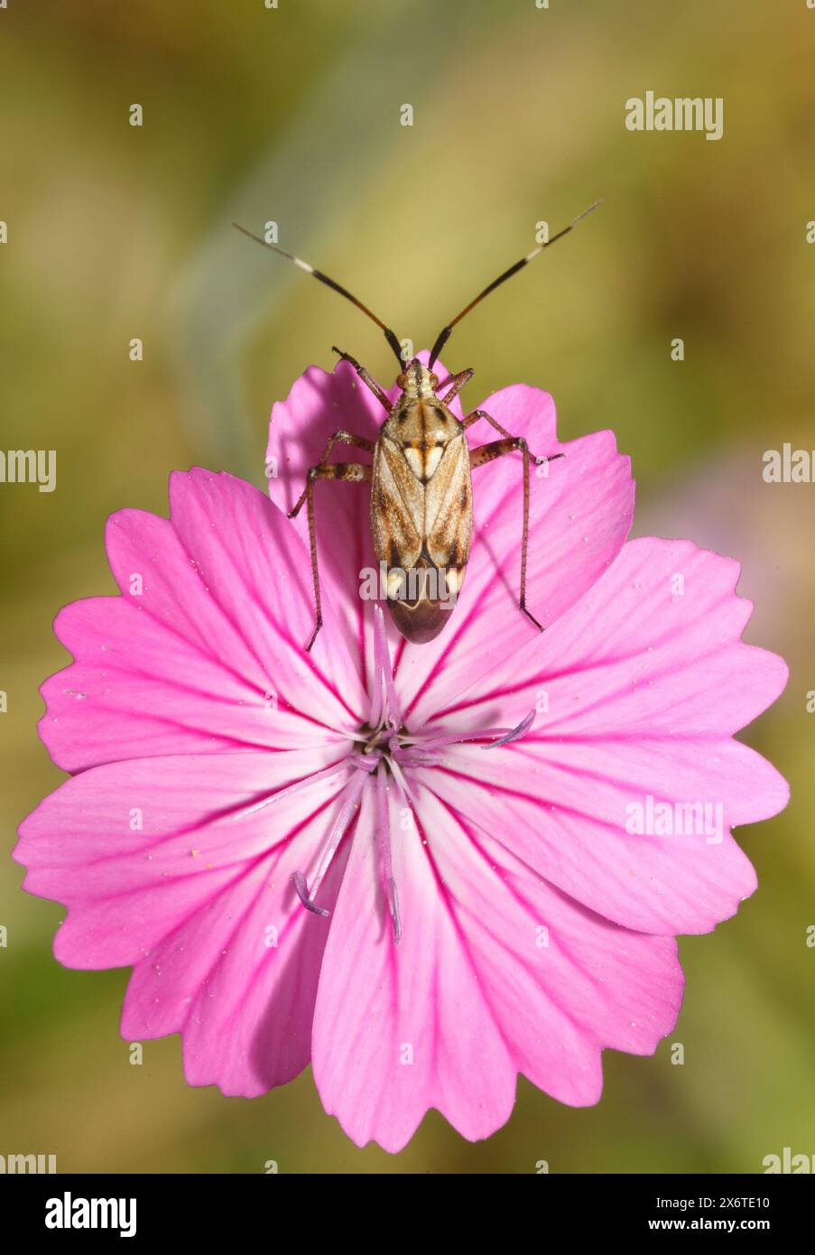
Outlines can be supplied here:
[[[257, 1094], [308, 1060], [327, 924], [303, 910], [291, 875], [312, 873], [347, 769], [258, 803], [337, 757], [98, 767], [21, 826], [14, 856], [29, 868], [26, 890], [69, 907], [56, 958], [71, 968], [134, 964], [122, 1032], [183, 1033], [191, 1084]], [[130, 828], [134, 808], [140, 831]], [[342, 863], [321, 889], [329, 910]]]

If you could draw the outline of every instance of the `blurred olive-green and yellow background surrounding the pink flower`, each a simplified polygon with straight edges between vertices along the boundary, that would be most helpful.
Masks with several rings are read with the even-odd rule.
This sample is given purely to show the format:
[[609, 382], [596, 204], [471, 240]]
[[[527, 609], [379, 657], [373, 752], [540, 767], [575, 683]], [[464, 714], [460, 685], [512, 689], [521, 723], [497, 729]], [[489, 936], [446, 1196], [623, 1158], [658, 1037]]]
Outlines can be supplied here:
[[[608, 1053], [601, 1104], [519, 1083], [469, 1145], [436, 1113], [408, 1150], [359, 1151], [310, 1073], [265, 1098], [184, 1084], [179, 1042], [118, 1037], [125, 971], [51, 956], [63, 911], [0, 867], [0, 1152], [60, 1171], [553, 1172], [761, 1170], [815, 1153], [815, 486], [766, 484], [765, 449], [815, 448], [815, 11], [805, 0], [9, 0], [0, 10], [1, 447], [55, 448], [56, 491], [0, 486], [3, 828], [58, 786], [38, 685], [68, 661], [51, 619], [113, 591], [107, 515], [167, 512], [171, 468], [263, 482], [270, 407], [340, 343], [382, 380], [380, 334], [232, 231], [349, 284], [418, 346], [597, 196], [578, 233], [456, 331], [471, 404], [548, 388], [565, 438], [612, 427], [637, 533], [744, 563], [746, 639], [790, 663], [745, 739], [789, 809], [740, 840], [760, 890], [686, 937], [687, 994], [655, 1058]], [[725, 136], [631, 133], [651, 89], [725, 100]], [[128, 124], [132, 103], [144, 125]], [[411, 128], [399, 110], [411, 103]], [[129, 360], [129, 341], [144, 360]], [[685, 361], [670, 344], [685, 340]], [[450, 351], [453, 350], [454, 351]], [[675, 1067], [670, 1043], [685, 1044]]]

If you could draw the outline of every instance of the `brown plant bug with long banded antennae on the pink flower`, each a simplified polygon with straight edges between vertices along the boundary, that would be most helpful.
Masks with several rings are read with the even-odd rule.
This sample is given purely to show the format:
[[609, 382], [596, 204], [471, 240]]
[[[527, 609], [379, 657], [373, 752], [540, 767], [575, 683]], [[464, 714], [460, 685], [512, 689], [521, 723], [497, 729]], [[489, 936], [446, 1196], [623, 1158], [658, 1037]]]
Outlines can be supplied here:
[[[550, 240], [539, 243], [465, 305], [436, 336], [426, 366], [418, 358], [405, 363], [395, 333], [341, 284], [293, 254], [286, 252], [278, 245], [270, 243], [237, 222], [233, 223], [251, 240], [263, 245], [265, 248], [271, 248], [272, 252], [282, 257], [287, 257], [301, 270], [313, 275], [321, 284], [326, 284], [340, 296], [351, 301], [380, 328], [399, 361], [399, 375], [395, 385], [400, 389], [400, 395], [391, 404], [384, 388], [376, 383], [356, 358], [336, 346], [332, 348], [332, 351], [347, 361], [362, 383], [370, 388], [387, 412], [387, 418], [375, 442], [344, 429], [334, 432], [320, 461], [310, 468], [305, 488], [290, 511], [288, 517], [293, 518], [306, 505], [308, 513], [316, 624], [306, 650], [311, 650], [322, 626], [313, 507], [316, 479], [371, 484], [371, 533], [376, 560], [380, 569], [384, 566], [386, 572], [387, 607], [402, 636], [421, 644], [433, 640], [443, 630], [446, 615], [455, 604], [464, 582], [473, 536], [471, 472], [476, 467], [515, 451], [523, 456], [523, 530], [518, 606], [535, 628], [543, 631], [542, 624], [527, 607], [529, 466], [532, 462], [540, 466], [547, 461], [555, 461], [563, 454], [558, 453], [553, 458], [535, 457], [530, 453], [523, 437], [512, 435], [483, 409], [474, 409], [463, 420], [459, 420], [449, 407], [475, 371], [468, 368], [439, 380], [433, 368], [454, 326], [479, 301], [483, 301], [503, 282], [529, 265], [544, 248], [573, 231], [577, 223], [596, 210], [599, 203], [596, 201]], [[479, 419], [489, 423], [502, 438], [470, 449], [464, 433]], [[330, 462], [331, 451], [337, 443], [365, 449], [372, 454], [372, 462]]]

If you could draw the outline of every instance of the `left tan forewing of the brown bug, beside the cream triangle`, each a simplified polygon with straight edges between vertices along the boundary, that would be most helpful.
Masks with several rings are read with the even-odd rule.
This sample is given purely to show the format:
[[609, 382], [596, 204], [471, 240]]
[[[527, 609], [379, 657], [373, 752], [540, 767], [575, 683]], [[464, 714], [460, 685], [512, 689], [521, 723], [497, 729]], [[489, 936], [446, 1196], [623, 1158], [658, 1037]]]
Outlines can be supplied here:
[[374, 451], [371, 532], [380, 562], [410, 571], [421, 555], [425, 493], [402, 451], [381, 437]]

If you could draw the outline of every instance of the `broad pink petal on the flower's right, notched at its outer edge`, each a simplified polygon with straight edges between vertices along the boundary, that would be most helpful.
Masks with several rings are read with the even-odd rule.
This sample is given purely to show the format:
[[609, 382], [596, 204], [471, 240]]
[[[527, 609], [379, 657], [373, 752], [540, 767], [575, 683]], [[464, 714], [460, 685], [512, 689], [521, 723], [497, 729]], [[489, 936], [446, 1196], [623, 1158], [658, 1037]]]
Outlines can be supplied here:
[[[671, 594], [677, 572], [682, 596]], [[769, 763], [728, 739], [786, 680], [781, 659], [739, 639], [750, 605], [735, 595], [737, 574], [687, 542], [627, 545], [545, 634], [543, 658], [503, 660], [438, 720], [512, 727], [538, 708], [533, 730], [495, 749], [455, 747], [423, 778], [608, 919], [651, 932], [712, 929], [756, 885], [730, 828], [789, 797]], [[648, 796], [721, 803], [723, 840], [629, 833], [627, 807]]]

